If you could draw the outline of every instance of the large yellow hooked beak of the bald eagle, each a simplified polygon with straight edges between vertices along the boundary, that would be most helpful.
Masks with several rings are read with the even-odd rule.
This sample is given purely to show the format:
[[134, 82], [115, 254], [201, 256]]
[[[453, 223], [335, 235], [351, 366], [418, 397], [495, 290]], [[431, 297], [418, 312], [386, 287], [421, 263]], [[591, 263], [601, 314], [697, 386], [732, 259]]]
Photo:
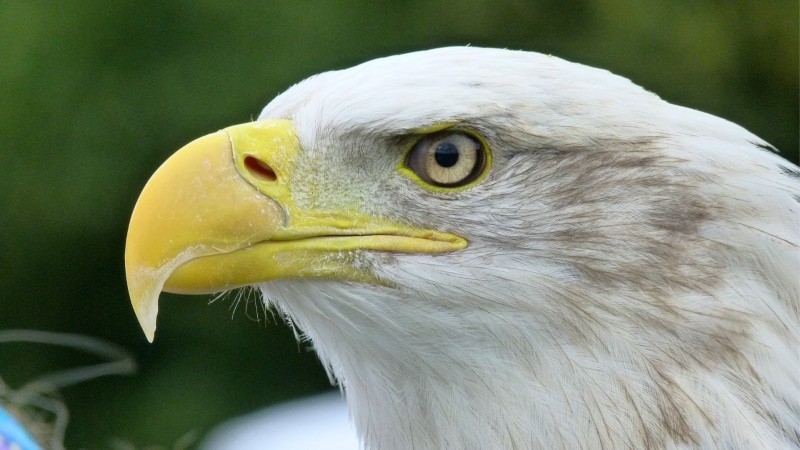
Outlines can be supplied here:
[[300, 157], [290, 121], [259, 121], [197, 139], [153, 174], [125, 248], [128, 291], [148, 340], [162, 290], [212, 293], [278, 278], [377, 282], [350, 252], [466, 247], [458, 236], [358, 211], [299, 209], [290, 181]]

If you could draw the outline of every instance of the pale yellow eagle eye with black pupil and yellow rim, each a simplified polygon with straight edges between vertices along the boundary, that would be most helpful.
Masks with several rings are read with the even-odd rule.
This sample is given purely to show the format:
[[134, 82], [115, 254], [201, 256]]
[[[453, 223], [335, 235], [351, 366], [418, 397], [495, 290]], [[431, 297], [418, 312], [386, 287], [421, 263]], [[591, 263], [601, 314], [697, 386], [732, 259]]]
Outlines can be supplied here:
[[475, 181], [486, 168], [486, 159], [486, 149], [476, 137], [463, 131], [441, 131], [414, 144], [405, 165], [422, 181], [448, 188]]

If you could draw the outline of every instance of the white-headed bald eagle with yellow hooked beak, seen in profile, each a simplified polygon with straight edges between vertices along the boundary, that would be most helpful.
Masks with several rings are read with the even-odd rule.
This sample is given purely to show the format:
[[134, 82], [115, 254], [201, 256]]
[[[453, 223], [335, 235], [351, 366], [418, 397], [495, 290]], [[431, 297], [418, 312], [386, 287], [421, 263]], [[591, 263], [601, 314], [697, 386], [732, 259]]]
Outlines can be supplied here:
[[473, 47], [311, 77], [170, 157], [126, 271], [253, 285], [365, 447], [800, 448], [800, 170], [607, 71]]

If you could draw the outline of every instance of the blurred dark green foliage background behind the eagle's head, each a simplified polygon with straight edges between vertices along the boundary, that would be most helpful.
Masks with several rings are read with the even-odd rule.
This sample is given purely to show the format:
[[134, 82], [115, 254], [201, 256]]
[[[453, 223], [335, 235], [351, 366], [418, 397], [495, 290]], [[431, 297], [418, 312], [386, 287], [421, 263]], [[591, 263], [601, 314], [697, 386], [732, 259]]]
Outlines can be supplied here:
[[[170, 447], [329, 389], [308, 346], [252, 303], [166, 296], [148, 344], [123, 272], [128, 217], [158, 165], [309, 75], [442, 45], [534, 50], [798, 155], [797, 0], [3, 0], [0, 42], [0, 329], [101, 337], [139, 364], [63, 390], [68, 448]], [[91, 361], [6, 344], [0, 377]]]

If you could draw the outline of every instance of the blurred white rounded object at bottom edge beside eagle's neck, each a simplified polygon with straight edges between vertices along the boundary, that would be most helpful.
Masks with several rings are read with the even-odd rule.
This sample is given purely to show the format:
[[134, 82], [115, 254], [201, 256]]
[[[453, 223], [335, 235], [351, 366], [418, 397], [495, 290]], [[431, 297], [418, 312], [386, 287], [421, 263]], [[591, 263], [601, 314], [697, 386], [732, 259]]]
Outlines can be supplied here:
[[358, 437], [339, 392], [283, 403], [222, 424], [202, 450], [357, 450]]

